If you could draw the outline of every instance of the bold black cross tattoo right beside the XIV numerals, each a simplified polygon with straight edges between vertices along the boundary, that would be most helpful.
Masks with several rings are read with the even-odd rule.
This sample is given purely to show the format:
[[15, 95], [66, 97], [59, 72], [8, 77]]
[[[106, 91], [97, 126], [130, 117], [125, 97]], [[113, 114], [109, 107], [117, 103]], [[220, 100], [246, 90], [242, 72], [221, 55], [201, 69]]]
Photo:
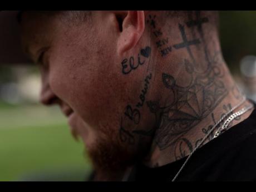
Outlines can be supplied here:
[[179, 48], [186, 47], [186, 50], [188, 51], [190, 57], [193, 59], [193, 61], [195, 61], [189, 46], [199, 44], [200, 40], [195, 39], [195, 40], [188, 41], [188, 39], [186, 38], [184, 26], [181, 25], [180, 23], [179, 23], [179, 29], [180, 29], [181, 37], [183, 38], [183, 42], [176, 44], [173, 47], [176, 48], [176, 50], [178, 50]]

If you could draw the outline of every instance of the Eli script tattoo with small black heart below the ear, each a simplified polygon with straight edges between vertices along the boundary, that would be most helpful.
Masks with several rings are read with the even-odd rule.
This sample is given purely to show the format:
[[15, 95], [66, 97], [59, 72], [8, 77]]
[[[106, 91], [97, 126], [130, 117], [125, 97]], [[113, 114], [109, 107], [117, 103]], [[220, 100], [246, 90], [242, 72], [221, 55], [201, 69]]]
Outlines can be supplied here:
[[[151, 48], [149, 46], [142, 48], [140, 50], [140, 53], [137, 56], [137, 60], [135, 61], [134, 57], [130, 57], [129, 60], [127, 58], [124, 58], [121, 62], [122, 67], [122, 73], [124, 75], [129, 74], [132, 70], [136, 70], [140, 65], [143, 65], [145, 63], [145, 58], [149, 58], [151, 53]], [[144, 60], [141, 59], [141, 57], [144, 57]]]

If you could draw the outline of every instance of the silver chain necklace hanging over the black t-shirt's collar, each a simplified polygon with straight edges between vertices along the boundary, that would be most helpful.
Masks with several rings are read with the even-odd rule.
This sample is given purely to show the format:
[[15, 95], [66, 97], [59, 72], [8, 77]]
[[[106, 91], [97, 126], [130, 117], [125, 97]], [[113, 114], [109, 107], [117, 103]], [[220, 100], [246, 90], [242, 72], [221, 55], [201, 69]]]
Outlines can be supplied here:
[[[215, 127], [218, 126], [220, 124], [221, 121], [223, 121], [225, 119], [225, 117], [227, 117], [232, 111], [234, 111], [235, 109], [237, 109], [240, 105], [242, 105], [244, 103], [244, 101], [246, 100], [246, 97], [243, 97], [242, 101], [239, 102], [239, 104], [235, 105], [232, 109], [230, 109], [225, 115], [223, 115], [218, 122], [216, 122], [216, 124], [210, 129], [210, 131], [208, 131], [208, 133], [205, 135], [205, 137], [200, 141], [199, 145], [195, 146], [195, 149], [193, 151], [190, 152], [189, 156], [187, 157], [185, 163], [181, 166], [180, 170], [178, 171], [178, 173], [175, 175], [175, 177], [173, 178], [173, 180], [171, 181], [175, 181], [176, 178], [179, 176], [181, 170], [183, 170], [184, 166], [186, 165], [186, 163], [188, 163], [188, 160], [190, 159], [190, 157], [194, 154], [194, 152], [203, 144], [203, 142], [208, 138], [208, 136], [211, 134], [211, 132], [214, 131]], [[228, 117], [228, 119], [224, 122], [223, 126], [220, 127], [215, 135], [214, 138], [216, 138], [220, 132], [223, 132], [225, 129], [227, 129], [228, 125], [230, 124], [230, 122], [232, 122], [236, 117], [244, 114], [245, 112], [247, 112], [248, 110], [252, 109], [253, 106], [249, 106], [249, 107], [245, 107], [242, 110], [235, 112], [234, 114], [230, 115], [230, 117]], [[213, 138], [213, 139], [214, 139]]]

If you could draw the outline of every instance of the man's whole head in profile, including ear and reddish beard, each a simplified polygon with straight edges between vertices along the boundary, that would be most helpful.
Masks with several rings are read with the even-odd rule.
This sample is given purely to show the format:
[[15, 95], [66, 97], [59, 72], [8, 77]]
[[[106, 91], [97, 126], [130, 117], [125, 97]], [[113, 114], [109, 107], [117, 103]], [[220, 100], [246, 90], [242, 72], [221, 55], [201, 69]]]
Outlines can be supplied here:
[[118, 170], [150, 150], [160, 106], [149, 101], [165, 100], [163, 69], [189, 77], [205, 71], [204, 45], [220, 50], [217, 21], [215, 12], [23, 12], [22, 43], [40, 64], [41, 102], [61, 106], [97, 169]]

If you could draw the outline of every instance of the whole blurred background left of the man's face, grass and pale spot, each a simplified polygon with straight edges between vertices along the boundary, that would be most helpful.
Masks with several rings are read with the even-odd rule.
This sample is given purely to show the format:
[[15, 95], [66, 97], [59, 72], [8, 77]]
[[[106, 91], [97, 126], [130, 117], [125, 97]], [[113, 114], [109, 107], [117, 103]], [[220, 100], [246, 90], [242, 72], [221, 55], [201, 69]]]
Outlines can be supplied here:
[[37, 66], [0, 66], [0, 181], [84, 181], [91, 163], [59, 107], [38, 102]]

